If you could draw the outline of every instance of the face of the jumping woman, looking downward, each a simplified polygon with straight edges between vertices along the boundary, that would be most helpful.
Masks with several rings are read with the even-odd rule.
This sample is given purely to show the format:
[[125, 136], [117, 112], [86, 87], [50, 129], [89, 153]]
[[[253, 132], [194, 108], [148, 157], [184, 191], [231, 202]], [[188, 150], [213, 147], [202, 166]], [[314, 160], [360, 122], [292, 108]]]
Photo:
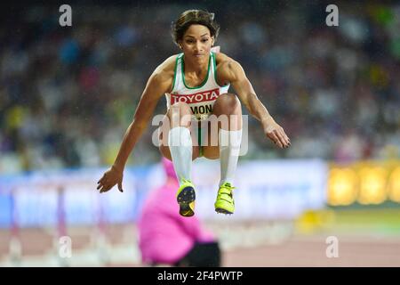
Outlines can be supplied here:
[[191, 25], [180, 42], [185, 57], [190, 57], [197, 61], [208, 60], [213, 44], [214, 37], [211, 37], [210, 29], [203, 25]]

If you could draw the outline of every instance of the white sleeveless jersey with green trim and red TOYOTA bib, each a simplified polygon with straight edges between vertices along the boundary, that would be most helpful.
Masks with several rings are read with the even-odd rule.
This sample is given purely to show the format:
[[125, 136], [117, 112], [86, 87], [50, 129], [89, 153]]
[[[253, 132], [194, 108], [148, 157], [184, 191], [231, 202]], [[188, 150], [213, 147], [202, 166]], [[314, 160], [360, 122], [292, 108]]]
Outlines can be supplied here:
[[176, 102], [185, 102], [193, 112], [193, 119], [205, 120], [212, 113], [212, 106], [220, 94], [228, 93], [229, 85], [217, 84], [217, 64], [215, 53], [210, 53], [208, 71], [204, 82], [196, 87], [189, 87], [185, 82], [183, 53], [180, 53], [175, 62], [172, 92], [165, 94], [167, 108]]

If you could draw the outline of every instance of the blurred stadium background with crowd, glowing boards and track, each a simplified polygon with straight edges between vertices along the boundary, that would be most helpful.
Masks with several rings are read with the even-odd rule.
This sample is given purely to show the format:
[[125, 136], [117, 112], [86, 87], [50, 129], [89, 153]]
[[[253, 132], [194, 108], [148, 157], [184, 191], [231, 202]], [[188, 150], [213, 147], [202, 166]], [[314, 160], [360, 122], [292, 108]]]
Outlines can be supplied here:
[[0, 265], [140, 265], [135, 218], [163, 178], [155, 126], [132, 153], [124, 194], [100, 196], [96, 182], [149, 75], [179, 53], [172, 20], [194, 8], [215, 12], [217, 45], [292, 140], [277, 150], [249, 118], [232, 217], [212, 213], [218, 163], [196, 161], [197, 183], [210, 175], [198, 215], [220, 237], [223, 265], [400, 265], [398, 4], [337, 2], [338, 27], [325, 24], [329, 3], [70, 4], [72, 27], [60, 27], [56, 5], [0, 12]]

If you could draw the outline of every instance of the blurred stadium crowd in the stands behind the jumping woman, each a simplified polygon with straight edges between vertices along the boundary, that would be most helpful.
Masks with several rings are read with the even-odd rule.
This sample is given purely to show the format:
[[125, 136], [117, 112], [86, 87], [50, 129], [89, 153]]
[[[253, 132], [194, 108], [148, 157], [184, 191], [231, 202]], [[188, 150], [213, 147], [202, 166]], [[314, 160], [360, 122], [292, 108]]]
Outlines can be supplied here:
[[[216, 12], [221, 52], [292, 140], [277, 151], [250, 118], [242, 159], [399, 158], [400, 5], [340, 2], [327, 27], [323, 5], [161, 3], [72, 4], [64, 28], [58, 6], [0, 12], [0, 173], [112, 163], [151, 72], [180, 52], [172, 20], [193, 8]], [[158, 161], [155, 129], [130, 163]]]

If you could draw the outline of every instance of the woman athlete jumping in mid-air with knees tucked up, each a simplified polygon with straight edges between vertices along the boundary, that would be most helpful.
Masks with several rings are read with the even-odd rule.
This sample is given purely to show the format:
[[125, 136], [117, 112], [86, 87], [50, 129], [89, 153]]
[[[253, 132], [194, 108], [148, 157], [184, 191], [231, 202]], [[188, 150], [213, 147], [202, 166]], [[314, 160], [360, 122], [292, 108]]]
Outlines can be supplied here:
[[[290, 146], [284, 129], [260, 102], [242, 66], [224, 53], [212, 52], [219, 29], [214, 14], [201, 10], [183, 12], [173, 23], [173, 39], [183, 53], [172, 55], [149, 77], [116, 160], [98, 182], [100, 192], [116, 184], [123, 191], [126, 161], [164, 94], [168, 110], [159, 132], [160, 151], [172, 160], [179, 177], [177, 200], [182, 216], [195, 214], [191, 164], [201, 156], [220, 158], [220, 188], [215, 210], [234, 213], [233, 180], [242, 140], [241, 102], [260, 121], [263, 132], [272, 142], [280, 148]], [[237, 96], [228, 94], [229, 85], [234, 87]], [[210, 127], [211, 118], [217, 118], [216, 132]]]

